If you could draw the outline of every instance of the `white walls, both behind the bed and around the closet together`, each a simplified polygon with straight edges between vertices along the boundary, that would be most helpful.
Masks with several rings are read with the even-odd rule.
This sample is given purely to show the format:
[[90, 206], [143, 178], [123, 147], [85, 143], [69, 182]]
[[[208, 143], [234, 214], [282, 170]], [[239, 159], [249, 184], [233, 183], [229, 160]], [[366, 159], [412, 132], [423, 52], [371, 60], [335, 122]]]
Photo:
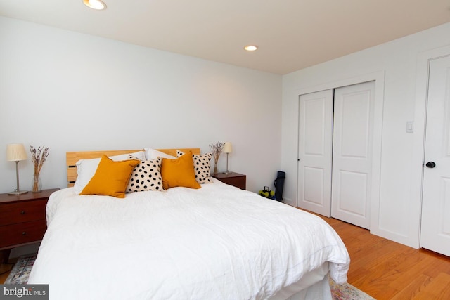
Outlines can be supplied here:
[[[0, 17], [0, 157], [8, 143], [49, 146], [43, 185], [63, 188], [66, 151], [206, 152], [210, 143], [231, 141], [229, 169], [247, 174], [249, 190], [271, 185], [281, 169], [285, 200], [295, 204], [299, 91], [383, 72], [379, 211], [371, 229], [417, 247], [421, 161], [413, 146], [423, 124], [406, 133], [406, 122], [415, 118], [420, 53], [446, 45], [450, 24], [281, 77]], [[224, 155], [219, 169], [225, 162]], [[15, 164], [0, 159], [0, 170], [0, 193], [14, 190]], [[20, 162], [23, 189], [31, 177], [30, 159]]]

